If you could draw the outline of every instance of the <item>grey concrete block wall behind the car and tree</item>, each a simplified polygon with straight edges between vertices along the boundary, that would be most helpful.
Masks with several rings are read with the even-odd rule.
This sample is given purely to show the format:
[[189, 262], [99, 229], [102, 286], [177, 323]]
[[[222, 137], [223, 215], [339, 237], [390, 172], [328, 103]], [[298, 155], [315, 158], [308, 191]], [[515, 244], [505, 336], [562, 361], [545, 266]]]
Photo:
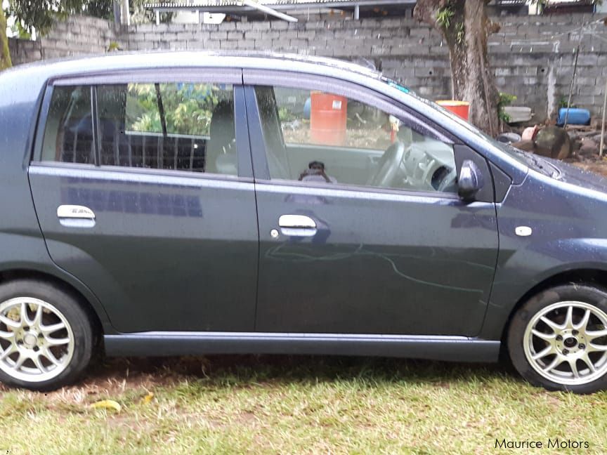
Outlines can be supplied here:
[[[556, 113], [568, 95], [573, 51], [580, 46], [573, 103], [598, 114], [607, 78], [607, 27], [589, 14], [505, 16], [489, 39], [490, 63], [500, 91], [528, 105], [535, 120]], [[289, 23], [226, 22], [221, 25], [145, 24], [115, 29], [93, 18], [70, 18], [37, 44], [15, 43], [16, 62], [107, 50], [280, 51], [370, 60], [387, 77], [431, 99], [451, 98], [448, 48], [438, 32], [412, 18], [326, 20]], [[37, 47], [38, 46], [38, 47]]]

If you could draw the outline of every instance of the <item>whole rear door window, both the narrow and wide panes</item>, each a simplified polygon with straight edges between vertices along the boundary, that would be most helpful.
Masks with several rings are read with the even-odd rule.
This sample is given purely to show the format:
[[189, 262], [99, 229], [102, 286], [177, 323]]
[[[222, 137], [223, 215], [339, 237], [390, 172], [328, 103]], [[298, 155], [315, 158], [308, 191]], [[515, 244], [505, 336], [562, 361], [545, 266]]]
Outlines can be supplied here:
[[[95, 89], [101, 166], [237, 175], [233, 86], [184, 82]], [[91, 126], [90, 88], [55, 88], [42, 159], [94, 163]]]

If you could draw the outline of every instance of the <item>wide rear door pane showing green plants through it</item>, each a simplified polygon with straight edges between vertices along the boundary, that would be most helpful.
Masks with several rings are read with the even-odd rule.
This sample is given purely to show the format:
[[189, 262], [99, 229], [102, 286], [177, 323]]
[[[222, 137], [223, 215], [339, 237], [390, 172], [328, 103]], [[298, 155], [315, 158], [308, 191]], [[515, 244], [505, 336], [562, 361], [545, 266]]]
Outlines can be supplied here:
[[102, 165], [237, 175], [232, 86], [99, 86]]

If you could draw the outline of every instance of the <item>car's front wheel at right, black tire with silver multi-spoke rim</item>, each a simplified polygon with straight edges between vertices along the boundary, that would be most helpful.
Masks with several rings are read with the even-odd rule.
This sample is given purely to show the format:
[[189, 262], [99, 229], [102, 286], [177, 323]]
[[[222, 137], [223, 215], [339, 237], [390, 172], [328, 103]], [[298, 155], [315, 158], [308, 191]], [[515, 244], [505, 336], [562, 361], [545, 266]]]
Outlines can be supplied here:
[[581, 394], [607, 388], [607, 291], [566, 284], [540, 292], [514, 313], [507, 345], [533, 385]]

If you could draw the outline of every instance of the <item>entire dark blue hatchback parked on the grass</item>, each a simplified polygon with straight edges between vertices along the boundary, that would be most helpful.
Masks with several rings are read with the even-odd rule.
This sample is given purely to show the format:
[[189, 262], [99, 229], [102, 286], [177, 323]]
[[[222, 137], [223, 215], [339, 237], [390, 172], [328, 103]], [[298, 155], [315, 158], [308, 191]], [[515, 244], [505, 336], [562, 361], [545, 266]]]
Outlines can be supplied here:
[[496, 362], [607, 386], [607, 182], [337, 60], [0, 74], [0, 380], [105, 355]]

